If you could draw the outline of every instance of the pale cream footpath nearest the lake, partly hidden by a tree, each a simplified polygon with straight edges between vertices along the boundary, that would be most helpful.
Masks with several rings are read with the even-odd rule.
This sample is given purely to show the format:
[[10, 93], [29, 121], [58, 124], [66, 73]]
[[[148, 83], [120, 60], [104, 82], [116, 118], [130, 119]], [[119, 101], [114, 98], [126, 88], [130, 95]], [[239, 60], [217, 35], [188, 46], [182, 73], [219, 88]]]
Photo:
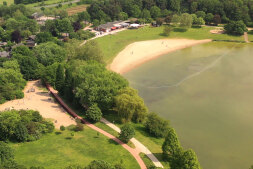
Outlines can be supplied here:
[[[118, 133], [120, 133], [120, 128], [117, 127], [116, 125], [114, 125], [113, 123], [109, 122], [108, 120], [102, 118], [101, 119], [102, 123], [105, 123], [107, 126], [109, 126], [110, 128], [112, 128], [113, 130], [117, 131]], [[159, 162], [159, 160], [154, 156], [153, 153], [151, 153], [151, 151], [149, 151], [149, 149], [147, 147], [145, 147], [142, 143], [140, 143], [137, 139], [132, 138], [130, 140], [134, 145], [135, 145], [135, 150], [138, 151], [139, 153], [142, 152], [144, 154], [146, 154], [149, 159], [154, 163], [154, 165], [156, 167], [160, 167], [163, 168], [163, 165]]]

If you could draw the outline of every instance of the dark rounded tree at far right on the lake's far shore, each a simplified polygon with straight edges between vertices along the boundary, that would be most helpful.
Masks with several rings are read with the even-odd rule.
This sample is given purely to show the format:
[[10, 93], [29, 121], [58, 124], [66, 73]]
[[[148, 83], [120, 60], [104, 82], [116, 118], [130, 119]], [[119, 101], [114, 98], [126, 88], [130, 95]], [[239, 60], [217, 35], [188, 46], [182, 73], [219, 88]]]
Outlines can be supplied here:
[[231, 21], [224, 26], [224, 29], [231, 35], [243, 35], [248, 29], [243, 21]]

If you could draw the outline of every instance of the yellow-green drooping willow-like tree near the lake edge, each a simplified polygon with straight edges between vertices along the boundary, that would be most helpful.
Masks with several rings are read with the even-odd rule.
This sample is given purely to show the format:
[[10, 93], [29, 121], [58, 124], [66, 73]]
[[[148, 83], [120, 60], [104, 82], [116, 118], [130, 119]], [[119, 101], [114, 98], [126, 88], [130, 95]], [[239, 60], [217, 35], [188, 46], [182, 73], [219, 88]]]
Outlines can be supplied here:
[[147, 115], [147, 107], [136, 90], [125, 88], [119, 91], [115, 97], [115, 110], [118, 112], [122, 122], [143, 122]]

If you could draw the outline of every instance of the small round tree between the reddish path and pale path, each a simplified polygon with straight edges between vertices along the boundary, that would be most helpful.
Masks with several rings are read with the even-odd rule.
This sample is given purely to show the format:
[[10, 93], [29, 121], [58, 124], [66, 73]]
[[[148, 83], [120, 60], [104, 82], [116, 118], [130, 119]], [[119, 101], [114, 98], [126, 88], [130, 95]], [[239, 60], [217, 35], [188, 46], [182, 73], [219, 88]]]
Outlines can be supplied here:
[[125, 124], [120, 128], [119, 139], [125, 143], [128, 143], [135, 135], [134, 128], [130, 124]]

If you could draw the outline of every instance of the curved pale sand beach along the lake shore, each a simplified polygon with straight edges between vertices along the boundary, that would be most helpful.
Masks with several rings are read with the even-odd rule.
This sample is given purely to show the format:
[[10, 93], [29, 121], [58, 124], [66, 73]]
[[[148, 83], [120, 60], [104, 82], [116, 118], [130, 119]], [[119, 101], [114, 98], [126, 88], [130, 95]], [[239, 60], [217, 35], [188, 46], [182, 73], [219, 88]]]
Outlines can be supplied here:
[[116, 73], [124, 74], [164, 54], [211, 41], [210, 39], [162, 39], [135, 42], [128, 45], [116, 56], [110, 64], [109, 69]]

